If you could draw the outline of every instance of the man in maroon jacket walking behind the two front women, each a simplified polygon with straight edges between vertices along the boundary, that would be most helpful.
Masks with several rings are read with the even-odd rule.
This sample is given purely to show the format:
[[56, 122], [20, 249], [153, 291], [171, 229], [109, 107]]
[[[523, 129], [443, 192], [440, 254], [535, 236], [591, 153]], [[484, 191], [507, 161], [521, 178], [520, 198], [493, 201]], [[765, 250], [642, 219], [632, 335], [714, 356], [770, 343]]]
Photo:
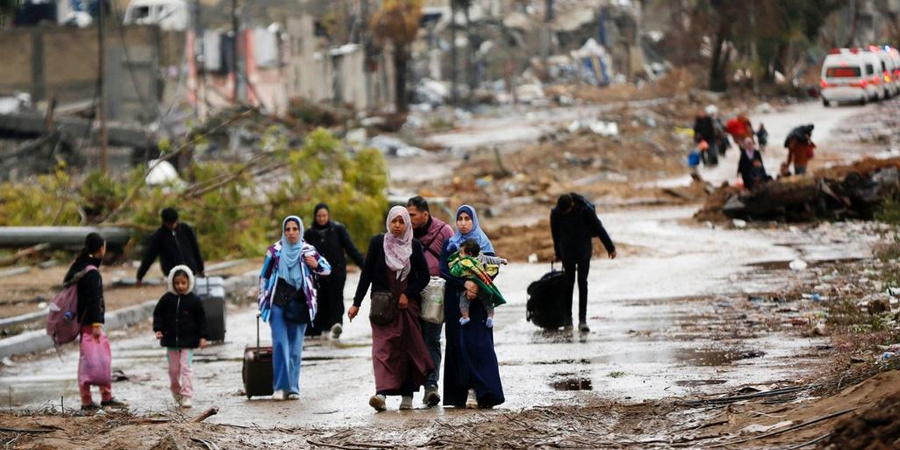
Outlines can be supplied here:
[[[435, 279], [440, 279], [441, 275], [441, 251], [444, 249], [446, 240], [453, 236], [453, 229], [443, 220], [431, 215], [428, 201], [420, 196], [410, 198], [406, 202], [406, 210], [410, 212], [412, 236], [419, 239], [425, 252], [428, 274], [432, 278], [429, 283], [435, 282]], [[428, 347], [428, 355], [435, 364], [435, 370], [428, 374], [425, 395], [422, 399], [428, 406], [437, 406], [441, 402], [441, 396], [437, 393], [437, 382], [440, 380], [441, 373], [441, 330], [443, 328], [443, 324], [422, 320], [425, 346]]]

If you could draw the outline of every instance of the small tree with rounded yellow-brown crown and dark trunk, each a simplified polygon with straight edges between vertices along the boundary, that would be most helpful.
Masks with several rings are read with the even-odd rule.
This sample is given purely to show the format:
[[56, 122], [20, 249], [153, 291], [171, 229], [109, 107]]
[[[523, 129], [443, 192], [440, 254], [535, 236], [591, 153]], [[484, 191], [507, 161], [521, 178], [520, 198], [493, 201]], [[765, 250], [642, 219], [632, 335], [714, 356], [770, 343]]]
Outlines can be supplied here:
[[394, 90], [397, 112], [407, 112], [407, 72], [410, 47], [419, 32], [422, 0], [384, 0], [372, 16], [375, 39], [393, 44]]

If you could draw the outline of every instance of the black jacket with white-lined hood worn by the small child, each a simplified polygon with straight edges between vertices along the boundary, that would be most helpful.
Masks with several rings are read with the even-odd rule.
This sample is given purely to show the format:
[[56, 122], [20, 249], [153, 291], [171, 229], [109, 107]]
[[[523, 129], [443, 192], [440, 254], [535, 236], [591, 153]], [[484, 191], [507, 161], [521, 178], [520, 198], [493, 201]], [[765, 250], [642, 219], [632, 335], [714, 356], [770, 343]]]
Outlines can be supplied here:
[[[172, 278], [178, 269], [188, 274], [188, 293], [178, 295], [174, 292]], [[162, 347], [196, 348], [200, 347], [200, 338], [208, 338], [206, 312], [203, 303], [193, 293], [193, 274], [185, 266], [175, 266], [168, 276], [169, 292], [159, 299], [153, 310], [153, 331], [162, 331], [160, 339]]]

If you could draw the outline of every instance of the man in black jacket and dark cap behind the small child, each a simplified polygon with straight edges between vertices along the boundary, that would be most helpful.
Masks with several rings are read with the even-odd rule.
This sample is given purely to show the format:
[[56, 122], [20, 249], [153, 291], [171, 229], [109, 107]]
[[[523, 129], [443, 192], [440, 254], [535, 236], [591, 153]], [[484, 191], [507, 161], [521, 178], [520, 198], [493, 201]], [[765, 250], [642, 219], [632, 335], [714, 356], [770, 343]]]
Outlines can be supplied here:
[[182, 264], [190, 267], [194, 274], [203, 276], [203, 258], [193, 229], [186, 223], [178, 222], [178, 211], [175, 208], [166, 208], [159, 215], [163, 224], [147, 239], [144, 259], [138, 269], [138, 284], [143, 281], [157, 257], [163, 276], [168, 276], [172, 267]]

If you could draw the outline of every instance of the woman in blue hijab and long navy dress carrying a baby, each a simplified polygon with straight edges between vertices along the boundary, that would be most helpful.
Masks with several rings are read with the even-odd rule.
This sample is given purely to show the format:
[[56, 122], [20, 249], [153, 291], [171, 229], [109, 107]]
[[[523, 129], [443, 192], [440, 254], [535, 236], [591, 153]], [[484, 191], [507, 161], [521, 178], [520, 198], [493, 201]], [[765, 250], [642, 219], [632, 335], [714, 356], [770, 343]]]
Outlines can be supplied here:
[[[484, 234], [478, 222], [478, 214], [469, 205], [456, 210], [456, 233], [447, 239], [441, 253], [441, 276], [446, 279], [445, 299], [459, 299], [466, 290], [477, 292], [478, 286], [472, 281], [450, 275], [447, 260], [467, 239], [478, 241], [485, 255], [496, 256], [491, 239]], [[487, 320], [487, 311], [478, 298], [472, 302], [469, 319], [478, 324]], [[500, 367], [494, 352], [493, 329], [481, 327], [461, 327], [459, 302], [444, 302], [446, 323], [446, 351], [444, 354], [444, 404], [456, 408], [491, 408], [505, 401], [503, 385], [500, 383]]]

